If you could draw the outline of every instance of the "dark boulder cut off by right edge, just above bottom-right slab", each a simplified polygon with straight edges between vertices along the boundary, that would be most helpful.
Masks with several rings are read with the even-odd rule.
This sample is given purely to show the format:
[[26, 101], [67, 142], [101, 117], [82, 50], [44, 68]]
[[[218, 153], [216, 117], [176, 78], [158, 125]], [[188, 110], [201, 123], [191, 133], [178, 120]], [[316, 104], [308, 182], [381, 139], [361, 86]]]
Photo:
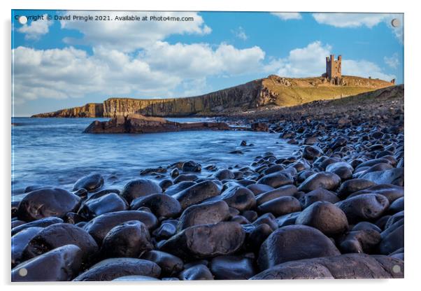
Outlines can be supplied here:
[[381, 233], [381, 241], [378, 246], [380, 254], [389, 255], [395, 250], [404, 247], [404, 220], [394, 222]]

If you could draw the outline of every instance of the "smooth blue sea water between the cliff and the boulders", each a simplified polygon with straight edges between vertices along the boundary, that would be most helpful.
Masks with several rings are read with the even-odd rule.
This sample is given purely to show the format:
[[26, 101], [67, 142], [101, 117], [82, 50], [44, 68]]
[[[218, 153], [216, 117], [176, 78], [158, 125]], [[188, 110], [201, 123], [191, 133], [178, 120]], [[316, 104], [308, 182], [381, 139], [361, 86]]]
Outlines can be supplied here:
[[[278, 134], [241, 131], [170, 132], [159, 134], [83, 134], [93, 120], [106, 118], [13, 118], [12, 194], [20, 199], [29, 185], [71, 190], [91, 172], [104, 176], [106, 187], [120, 188], [139, 171], [194, 160], [218, 168], [248, 165], [254, 157], [273, 152], [287, 157], [296, 146]], [[206, 119], [171, 118], [178, 122]], [[209, 121], [209, 120], [208, 120]], [[242, 140], [255, 146], [241, 147]], [[243, 155], [229, 154], [243, 150]], [[205, 173], [206, 174], [206, 173]]]

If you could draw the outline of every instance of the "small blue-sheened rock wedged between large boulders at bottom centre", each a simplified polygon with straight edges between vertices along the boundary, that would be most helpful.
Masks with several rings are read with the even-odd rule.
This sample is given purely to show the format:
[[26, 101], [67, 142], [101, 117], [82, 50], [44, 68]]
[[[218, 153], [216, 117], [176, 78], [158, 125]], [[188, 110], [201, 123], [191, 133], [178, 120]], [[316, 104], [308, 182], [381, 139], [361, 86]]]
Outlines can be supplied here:
[[211, 271], [217, 280], [247, 280], [256, 274], [252, 259], [233, 255], [214, 257]]

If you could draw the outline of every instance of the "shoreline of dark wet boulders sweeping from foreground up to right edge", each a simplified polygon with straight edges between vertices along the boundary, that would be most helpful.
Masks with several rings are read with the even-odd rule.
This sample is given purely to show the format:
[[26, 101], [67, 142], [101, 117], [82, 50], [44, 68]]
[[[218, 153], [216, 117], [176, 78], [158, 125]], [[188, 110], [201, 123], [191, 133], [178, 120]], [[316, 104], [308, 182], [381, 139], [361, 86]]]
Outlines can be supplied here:
[[287, 158], [28, 187], [12, 204], [12, 281], [403, 278], [403, 92], [226, 118], [297, 144]]

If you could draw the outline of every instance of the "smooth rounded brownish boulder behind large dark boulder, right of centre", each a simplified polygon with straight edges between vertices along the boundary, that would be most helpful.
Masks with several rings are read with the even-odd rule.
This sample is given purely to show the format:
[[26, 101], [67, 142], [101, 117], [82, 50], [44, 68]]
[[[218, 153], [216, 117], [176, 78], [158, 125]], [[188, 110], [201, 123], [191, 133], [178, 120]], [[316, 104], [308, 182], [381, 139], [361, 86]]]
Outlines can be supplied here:
[[317, 201], [308, 206], [297, 216], [295, 223], [315, 227], [327, 236], [343, 234], [348, 230], [345, 213], [327, 201]]

